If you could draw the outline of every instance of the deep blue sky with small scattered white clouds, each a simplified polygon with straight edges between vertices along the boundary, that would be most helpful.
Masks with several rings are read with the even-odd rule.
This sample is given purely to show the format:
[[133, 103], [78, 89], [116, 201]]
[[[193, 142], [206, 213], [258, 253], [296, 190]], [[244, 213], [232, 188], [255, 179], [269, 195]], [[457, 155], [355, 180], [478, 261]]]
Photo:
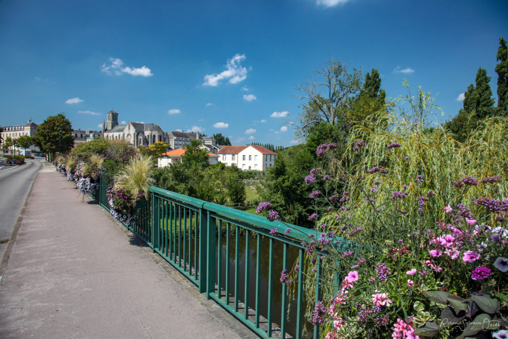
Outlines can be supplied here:
[[[492, 78], [508, 2], [0, 2], [0, 125], [65, 111], [74, 128], [119, 120], [222, 133], [233, 144], [295, 143], [296, 84], [328, 61], [377, 68], [388, 97], [439, 93], [441, 122], [478, 67]], [[286, 116], [287, 118], [287, 116]]]

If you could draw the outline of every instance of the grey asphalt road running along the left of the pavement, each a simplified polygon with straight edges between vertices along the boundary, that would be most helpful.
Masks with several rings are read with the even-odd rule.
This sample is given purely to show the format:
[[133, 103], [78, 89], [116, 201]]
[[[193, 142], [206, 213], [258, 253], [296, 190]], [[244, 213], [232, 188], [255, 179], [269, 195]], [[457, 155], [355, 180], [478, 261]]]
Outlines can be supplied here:
[[44, 160], [25, 159], [23, 165], [0, 167], [0, 258], [4, 255], [35, 175], [43, 167], [41, 161]]

